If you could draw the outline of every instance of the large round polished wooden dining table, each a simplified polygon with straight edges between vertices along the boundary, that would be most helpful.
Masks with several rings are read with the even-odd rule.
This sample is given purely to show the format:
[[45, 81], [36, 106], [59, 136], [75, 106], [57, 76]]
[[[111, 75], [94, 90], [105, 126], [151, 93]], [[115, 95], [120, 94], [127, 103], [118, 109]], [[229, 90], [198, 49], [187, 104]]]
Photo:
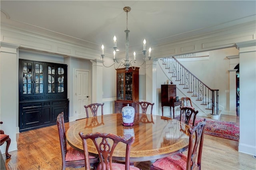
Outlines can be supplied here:
[[[68, 128], [66, 138], [68, 144], [83, 152], [82, 139], [79, 132], [84, 134], [106, 132], [130, 138], [135, 136], [135, 142], [130, 151], [130, 161], [148, 161], [164, 158], [188, 148], [188, 125], [168, 117], [135, 114], [134, 125], [122, 125], [122, 114], [100, 115], [76, 121]], [[109, 142], [111, 142], [109, 140]], [[97, 156], [98, 151], [92, 140], [87, 139], [88, 151]], [[118, 143], [113, 153], [113, 160], [124, 161], [126, 145]]]

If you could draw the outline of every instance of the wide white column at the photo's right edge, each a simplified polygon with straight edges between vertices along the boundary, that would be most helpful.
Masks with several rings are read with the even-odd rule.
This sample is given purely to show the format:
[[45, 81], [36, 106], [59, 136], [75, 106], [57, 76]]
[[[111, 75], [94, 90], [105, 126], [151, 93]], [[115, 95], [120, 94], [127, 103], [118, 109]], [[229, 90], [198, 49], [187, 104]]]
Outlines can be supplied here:
[[238, 151], [256, 155], [256, 40], [239, 48], [240, 139]]

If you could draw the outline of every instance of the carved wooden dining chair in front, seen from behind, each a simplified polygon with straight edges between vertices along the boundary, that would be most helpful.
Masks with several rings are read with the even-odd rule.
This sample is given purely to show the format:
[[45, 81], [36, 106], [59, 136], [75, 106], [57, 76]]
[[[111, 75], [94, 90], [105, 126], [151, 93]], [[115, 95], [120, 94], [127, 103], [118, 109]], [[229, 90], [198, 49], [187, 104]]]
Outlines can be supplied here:
[[[131, 145], [135, 140], [134, 136], [132, 136], [131, 138], [125, 138], [117, 136], [116, 134], [107, 134], [101, 132], [95, 132], [90, 134], [83, 134], [82, 132], [79, 132], [79, 135], [82, 139], [84, 147], [86, 170], [90, 170], [90, 167], [87, 166], [89, 159], [86, 156], [88, 155], [88, 146], [86, 139], [91, 139], [98, 151], [100, 163], [98, 164], [97, 170], [139, 170], [139, 168], [137, 167], [130, 166], [130, 150]], [[108, 139], [110, 139], [111, 142], [108, 142]], [[123, 142], [124, 144], [126, 144], [125, 164], [112, 162], [114, 149], [119, 142]]]

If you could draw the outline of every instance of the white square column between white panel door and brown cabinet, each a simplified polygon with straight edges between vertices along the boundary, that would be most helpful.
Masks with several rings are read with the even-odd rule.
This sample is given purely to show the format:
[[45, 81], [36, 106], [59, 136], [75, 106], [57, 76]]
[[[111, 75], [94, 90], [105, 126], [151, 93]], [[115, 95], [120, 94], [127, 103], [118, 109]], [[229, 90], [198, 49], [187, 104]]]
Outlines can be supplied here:
[[92, 62], [92, 103], [102, 103], [102, 60], [94, 59]]

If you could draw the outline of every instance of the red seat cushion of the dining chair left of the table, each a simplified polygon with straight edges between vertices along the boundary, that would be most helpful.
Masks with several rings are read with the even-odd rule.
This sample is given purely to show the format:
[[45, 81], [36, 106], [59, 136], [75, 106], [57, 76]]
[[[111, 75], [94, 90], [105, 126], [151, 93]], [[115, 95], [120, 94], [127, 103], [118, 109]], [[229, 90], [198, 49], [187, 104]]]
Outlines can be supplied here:
[[[95, 158], [94, 156], [89, 156], [89, 159]], [[71, 146], [67, 146], [67, 153], [65, 160], [83, 160], [84, 159], [84, 152], [80, 152], [78, 150], [73, 149]]]

